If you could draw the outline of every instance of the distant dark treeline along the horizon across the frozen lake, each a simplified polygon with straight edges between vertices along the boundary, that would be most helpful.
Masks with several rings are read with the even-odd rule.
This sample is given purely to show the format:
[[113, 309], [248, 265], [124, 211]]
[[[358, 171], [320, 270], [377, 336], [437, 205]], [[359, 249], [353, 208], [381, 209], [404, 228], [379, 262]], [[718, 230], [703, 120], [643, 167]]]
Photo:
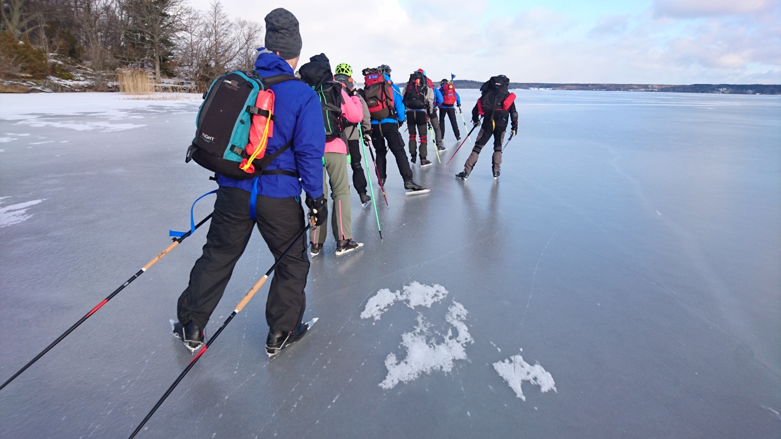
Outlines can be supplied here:
[[[455, 80], [458, 88], [480, 88], [482, 82], [477, 80]], [[724, 95], [781, 95], [781, 85], [765, 84], [691, 84], [691, 85], [660, 85], [660, 84], [543, 84], [531, 82], [511, 82], [512, 89], [544, 89], [544, 90], [591, 90], [591, 91], [666, 91], [669, 93], [720, 93]]]

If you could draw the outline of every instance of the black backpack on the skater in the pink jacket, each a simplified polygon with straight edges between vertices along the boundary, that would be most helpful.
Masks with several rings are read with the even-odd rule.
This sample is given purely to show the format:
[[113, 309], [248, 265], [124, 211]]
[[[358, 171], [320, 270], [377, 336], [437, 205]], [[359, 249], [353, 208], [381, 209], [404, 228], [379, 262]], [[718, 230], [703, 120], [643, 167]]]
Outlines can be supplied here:
[[323, 106], [323, 125], [326, 138], [341, 138], [347, 121], [341, 114], [344, 99], [341, 95], [342, 84], [333, 80], [331, 66], [324, 54], [312, 56], [309, 62], [298, 70], [303, 80], [312, 87]]

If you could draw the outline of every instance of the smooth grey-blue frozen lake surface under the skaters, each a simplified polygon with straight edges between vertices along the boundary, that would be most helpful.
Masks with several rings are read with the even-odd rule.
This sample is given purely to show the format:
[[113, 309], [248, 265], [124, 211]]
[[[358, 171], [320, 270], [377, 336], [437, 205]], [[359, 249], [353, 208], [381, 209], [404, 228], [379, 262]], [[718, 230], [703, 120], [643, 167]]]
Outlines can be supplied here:
[[[449, 128], [430, 194], [389, 160], [384, 241], [353, 191], [366, 246], [312, 261], [312, 332], [269, 361], [264, 287], [138, 437], [781, 437], [781, 98], [516, 93], [499, 180], [490, 147], [455, 180]], [[0, 381], [187, 229], [199, 103], [0, 95]], [[127, 437], [191, 359], [204, 242], [0, 391], [0, 437]], [[256, 233], [208, 334], [272, 262]]]

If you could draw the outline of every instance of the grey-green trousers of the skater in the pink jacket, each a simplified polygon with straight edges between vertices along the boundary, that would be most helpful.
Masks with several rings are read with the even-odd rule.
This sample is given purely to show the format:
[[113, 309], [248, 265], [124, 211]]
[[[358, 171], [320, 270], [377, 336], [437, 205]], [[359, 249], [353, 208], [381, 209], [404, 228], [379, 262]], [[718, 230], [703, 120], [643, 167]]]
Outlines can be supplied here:
[[[347, 174], [347, 154], [326, 152], [326, 166], [323, 172], [323, 197], [328, 198], [326, 173], [331, 187], [330, 205], [331, 230], [333, 239], [341, 241], [352, 239], [352, 207], [350, 205], [350, 183]], [[316, 244], [326, 242], [327, 228], [325, 224], [309, 232], [309, 241]]]

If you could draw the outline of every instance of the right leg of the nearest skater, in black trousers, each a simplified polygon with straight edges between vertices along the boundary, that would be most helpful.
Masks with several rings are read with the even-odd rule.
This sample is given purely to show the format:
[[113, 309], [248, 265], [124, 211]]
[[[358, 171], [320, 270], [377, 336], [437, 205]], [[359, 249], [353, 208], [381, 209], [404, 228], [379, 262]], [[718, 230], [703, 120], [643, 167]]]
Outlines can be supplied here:
[[258, 230], [274, 259], [279, 260], [266, 301], [266, 322], [271, 330], [293, 330], [304, 317], [304, 288], [309, 273], [306, 241], [299, 239], [284, 259], [280, 259], [304, 230], [304, 209], [296, 198], [258, 196]]

